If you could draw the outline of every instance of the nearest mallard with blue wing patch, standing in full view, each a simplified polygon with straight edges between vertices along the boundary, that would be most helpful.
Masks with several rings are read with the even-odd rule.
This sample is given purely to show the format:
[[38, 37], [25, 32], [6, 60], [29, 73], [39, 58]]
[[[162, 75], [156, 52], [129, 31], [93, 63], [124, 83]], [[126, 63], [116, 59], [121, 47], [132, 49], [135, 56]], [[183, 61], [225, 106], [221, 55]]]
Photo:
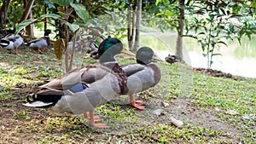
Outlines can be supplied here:
[[[50, 108], [54, 112], [84, 114], [90, 126], [107, 128], [94, 110], [106, 101], [124, 95], [127, 76], [114, 60], [114, 55], [125, 53], [121, 41], [114, 37], [104, 39], [99, 45], [98, 65], [87, 65], [65, 73], [26, 96], [26, 107]], [[129, 54], [129, 53], [128, 53]]]

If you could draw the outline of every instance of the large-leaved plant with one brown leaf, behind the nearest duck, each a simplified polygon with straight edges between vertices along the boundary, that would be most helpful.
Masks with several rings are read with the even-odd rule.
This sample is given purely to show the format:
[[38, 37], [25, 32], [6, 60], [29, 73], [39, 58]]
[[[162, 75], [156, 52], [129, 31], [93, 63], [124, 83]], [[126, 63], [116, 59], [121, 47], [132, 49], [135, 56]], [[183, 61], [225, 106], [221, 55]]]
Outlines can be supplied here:
[[[52, 3], [58, 4], [57, 14], [44, 14], [40, 16], [38, 19], [32, 20], [23, 20], [17, 26], [16, 32], [19, 32], [21, 29], [25, 28], [32, 23], [37, 23], [43, 21], [45, 18], [51, 18], [53, 20], [60, 21], [61, 26], [64, 27], [64, 35], [60, 39], [57, 39], [54, 43], [55, 55], [58, 59], [61, 59], [62, 54], [66, 52], [65, 56], [65, 66], [66, 71], [70, 71], [72, 69], [73, 63], [73, 52], [74, 45], [71, 54], [70, 61], [68, 61], [67, 55], [67, 46], [71, 37], [75, 36], [75, 33], [79, 30], [79, 27], [84, 26], [89, 20], [89, 14], [85, 9], [84, 5], [80, 3], [73, 3], [73, 0], [51, 0]], [[61, 30], [60, 30], [61, 32]], [[75, 41], [75, 38], [73, 38]]]

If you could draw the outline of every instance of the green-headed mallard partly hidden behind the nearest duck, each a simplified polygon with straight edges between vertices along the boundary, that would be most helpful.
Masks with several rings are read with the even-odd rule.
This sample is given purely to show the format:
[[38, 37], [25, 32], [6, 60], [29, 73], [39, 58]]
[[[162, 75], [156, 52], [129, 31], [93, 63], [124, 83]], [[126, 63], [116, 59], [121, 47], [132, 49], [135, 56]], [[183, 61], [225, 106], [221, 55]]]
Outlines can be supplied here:
[[143, 101], [135, 101], [135, 95], [158, 84], [161, 78], [160, 68], [151, 63], [153, 57], [154, 51], [152, 49], [142, 47], [137, 50], [137, 64], [122, 66], [128, 77], [127, 89], [131, 106], [140, 110], [144, 110], [145, 107], [141, 106]]

